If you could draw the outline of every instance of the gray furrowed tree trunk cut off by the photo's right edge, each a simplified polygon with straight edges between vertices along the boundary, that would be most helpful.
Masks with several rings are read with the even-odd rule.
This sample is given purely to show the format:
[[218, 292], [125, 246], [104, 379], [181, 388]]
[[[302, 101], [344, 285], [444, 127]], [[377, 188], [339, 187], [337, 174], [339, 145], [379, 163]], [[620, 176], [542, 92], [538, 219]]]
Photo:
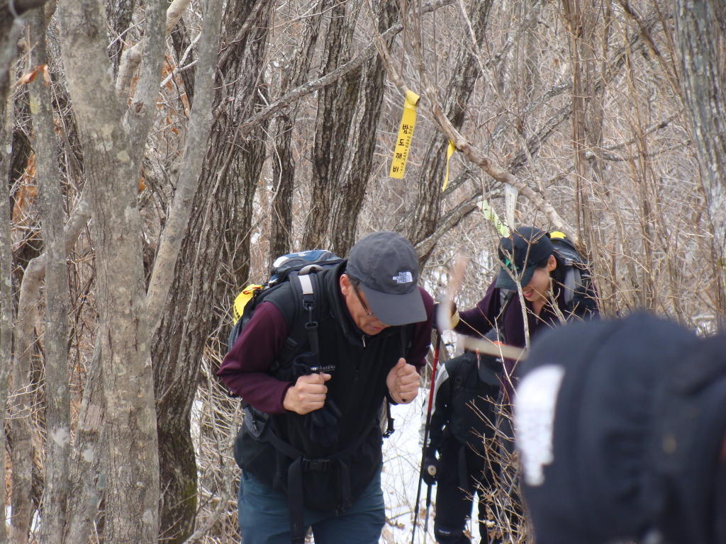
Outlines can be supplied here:
[[[701, 168], [701, 183], [714, 229], [714, 252], [718, 259], [717, 310], [726, 319], [726, 96], [723, 63], [717, 44], [726, 33], [720, 0], [674, 0], [676, 46], [680, 59], [680, 83], [690, 130]], [[722, 59], [723, 51], [721, 51]]]

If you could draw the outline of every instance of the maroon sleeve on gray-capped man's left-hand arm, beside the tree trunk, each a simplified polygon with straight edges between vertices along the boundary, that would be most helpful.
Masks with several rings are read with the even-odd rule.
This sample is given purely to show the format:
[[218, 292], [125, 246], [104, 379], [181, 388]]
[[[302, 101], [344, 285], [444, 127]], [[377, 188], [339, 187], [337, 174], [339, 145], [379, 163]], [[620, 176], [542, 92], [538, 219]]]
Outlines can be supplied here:
[[287, 333], [280, 310], [272, 302], [262, 302], [217, 372], [230, 391], [266, 413], [287, 412], [282, 400], [292, 384], [267, 374]]

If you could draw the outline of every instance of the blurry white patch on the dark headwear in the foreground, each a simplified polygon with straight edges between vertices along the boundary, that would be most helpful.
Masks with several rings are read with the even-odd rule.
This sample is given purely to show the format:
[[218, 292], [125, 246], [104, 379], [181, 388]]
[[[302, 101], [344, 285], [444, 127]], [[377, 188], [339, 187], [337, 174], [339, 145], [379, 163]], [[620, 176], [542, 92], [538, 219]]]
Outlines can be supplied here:
[[515, 437], [522, 453], [524, 481], [544, 483], [544, 466], [555, 460], [553, 432], [557, 397], [565, 376], [560, 365], [544, 365], [524, 376], [514, 402]]

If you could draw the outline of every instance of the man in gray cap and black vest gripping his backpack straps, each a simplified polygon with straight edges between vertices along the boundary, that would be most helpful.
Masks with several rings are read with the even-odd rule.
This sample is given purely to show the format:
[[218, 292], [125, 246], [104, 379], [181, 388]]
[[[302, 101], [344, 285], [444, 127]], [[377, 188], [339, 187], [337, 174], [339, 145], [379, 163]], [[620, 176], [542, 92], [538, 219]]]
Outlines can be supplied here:
[[242, 542], [303, 542], [311, 528], [317, 544], [375, 544], [385, 523], [380, 406], [417, 396], [433, 300], [417, 286], [412, 245], [388, 231], [309, 277], [317, 350], [279, 361], [297, 310], [290, 281], [256, 308], [218, 373], [252, 407], [234, 445]]

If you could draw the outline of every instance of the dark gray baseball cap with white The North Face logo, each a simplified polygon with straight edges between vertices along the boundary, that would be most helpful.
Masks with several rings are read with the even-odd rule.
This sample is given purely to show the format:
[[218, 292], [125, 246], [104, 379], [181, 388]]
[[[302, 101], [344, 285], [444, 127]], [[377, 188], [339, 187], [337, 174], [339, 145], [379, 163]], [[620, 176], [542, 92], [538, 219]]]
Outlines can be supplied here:
[[351, 249], [346, 272], [358, 279], [370, 310], [386, 325], [427, 318], [418, 289], [418, 256], [411, 242], [389, 231], [364, 236]]

